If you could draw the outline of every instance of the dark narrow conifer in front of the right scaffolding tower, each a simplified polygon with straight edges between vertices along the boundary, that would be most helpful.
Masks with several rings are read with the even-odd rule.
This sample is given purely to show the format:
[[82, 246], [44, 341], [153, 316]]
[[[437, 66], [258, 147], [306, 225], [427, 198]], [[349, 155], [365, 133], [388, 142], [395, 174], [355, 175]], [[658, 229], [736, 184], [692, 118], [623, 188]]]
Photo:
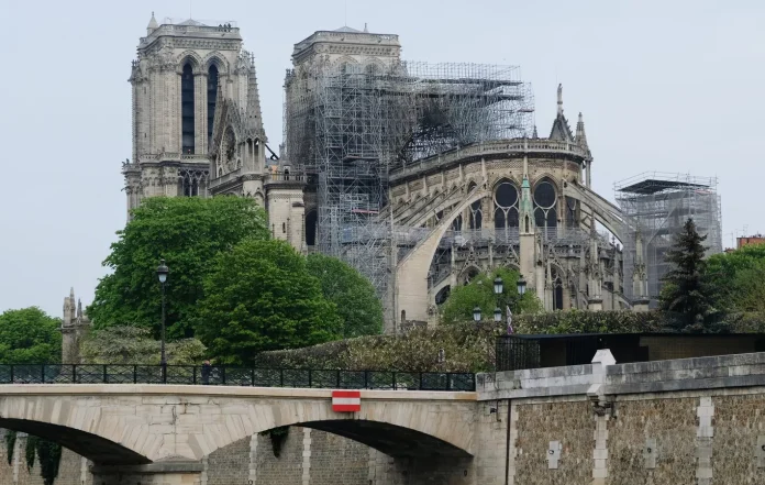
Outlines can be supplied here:
[[703, 241], [696, 223], [688, 219], [683, 231], [675, 235], [665, 262], [673, 268], [664, 276], [665, 287], [659, 296], [659, 308], [668, 316], [669, 327], [684, 332], [713, 331], [716, 310], [712, 290], [707, 284]]

